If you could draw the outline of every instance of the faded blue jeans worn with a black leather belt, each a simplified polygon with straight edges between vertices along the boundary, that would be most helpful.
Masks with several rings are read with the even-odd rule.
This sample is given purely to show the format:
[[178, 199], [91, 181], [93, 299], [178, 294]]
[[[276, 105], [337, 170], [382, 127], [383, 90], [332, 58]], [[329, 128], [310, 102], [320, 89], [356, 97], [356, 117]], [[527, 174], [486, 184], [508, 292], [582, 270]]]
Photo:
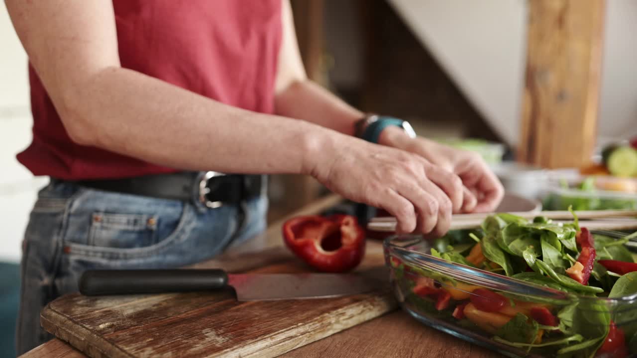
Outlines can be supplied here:
[[40, 326], [40, 311], [77, 291], [85, 269], [176, 268], [204, 261], [263, 231], [267, 206], [264, 194], [210, 209], [195, 200], [52, 182], [40, 190], [25, 232], [18, 355], [52, 338]]

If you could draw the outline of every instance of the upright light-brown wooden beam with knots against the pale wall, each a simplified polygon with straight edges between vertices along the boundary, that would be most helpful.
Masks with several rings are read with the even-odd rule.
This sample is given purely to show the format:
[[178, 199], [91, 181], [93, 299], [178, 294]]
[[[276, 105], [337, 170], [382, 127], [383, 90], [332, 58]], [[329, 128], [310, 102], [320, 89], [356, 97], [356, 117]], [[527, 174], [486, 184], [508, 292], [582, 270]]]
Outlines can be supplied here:
[[532, 0], [519, 161], [590, 162], [599, 111], [605, 0]]

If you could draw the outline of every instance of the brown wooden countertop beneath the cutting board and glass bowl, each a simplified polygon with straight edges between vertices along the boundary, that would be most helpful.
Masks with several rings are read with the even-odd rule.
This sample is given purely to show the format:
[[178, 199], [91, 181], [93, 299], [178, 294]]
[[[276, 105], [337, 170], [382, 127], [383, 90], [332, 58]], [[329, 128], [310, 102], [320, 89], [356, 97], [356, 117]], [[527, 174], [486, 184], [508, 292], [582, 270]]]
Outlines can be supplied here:
[[[296, 211], [293, 215], [317, 213], [329, 208], [341, 200], [338, 196], [328, 196]], [[251, 269], [245, 265], [239, 268], [234, 257], [249, 255], [252, 268], [273, 264], [278, 259], [289, 259], [289, 253], [282, 248], [280, 235], [284, 219], [271, 224], [263, 235], [243, 245], [232, 248], [226, 254], [211, 261], [202, 262], [194, 267], [224, 267], [233, 269]], [[378, 246], [378, 245], [374, 245]], [[246, 262], [245, 260], [241, 260]], [[462, 357], [482, 358], [500, 357], [500, 355], [459, 340], [449, 334], [423, 326], [403, 311], [387, 313], [368, 322], [345, 331], [333, 334], [322, 340], [296, 348], [280, 355], [283, 358], [296, 357]], [[64, 341], [54, 339], [22, 355], [24, 358], [84, 358], [84, 354], [75, 350]]]

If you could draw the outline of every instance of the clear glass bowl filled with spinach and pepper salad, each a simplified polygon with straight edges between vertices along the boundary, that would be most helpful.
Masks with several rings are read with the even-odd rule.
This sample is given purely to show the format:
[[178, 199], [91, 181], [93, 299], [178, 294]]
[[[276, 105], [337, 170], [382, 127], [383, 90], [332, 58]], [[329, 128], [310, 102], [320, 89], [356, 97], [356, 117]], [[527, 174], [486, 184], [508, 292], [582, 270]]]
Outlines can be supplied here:
[[[390, 280], [394, 294], [403, 310], [413, 318], [462, 340], [509, 357], [593, 357], [606, 338], [610, 322], [614, 322], [619, 328], [637, 327], [637, 294], [608, 299], [552, 289], [439, 259], [426, 254], [430, 252], [431, 245], [432, 242], [423, 239], [422, 236], [394, 235], [385, 239], [383, 242], [385, 261], [391, 268]], [[444, 299], [437, 299], [436, 294], [420, 293], [422, 287], [431, 287], [431, 283], [433, 283], [434, 291], [445, 290], [450, 294], [445, 294], [446, 297], [450, 296], [447, 303]], [[508, 299], [506, 313], [503, 314], [500, 311], [494, 315], [492, 312], [476, 310], [474, 300], [488, 298], [476, 294], [474, 292], [476, 288], [505, 296]], [[483, 290], [478, 292], [482, 294]], [[457, 314], [459, 310], [456, 308], [462, 304], [466, 304], [464, 311], [462, 314]], [[541, 325], [538, 325], [537, 331], [533, 331], [526, 329], [526, 324], [516, 327], [512, 323], [513, 326], [505, 327], [507, 332], [499, 331], [503, 322], [512, 321], [517, 313], [535, 317], [536, 310], [544, 311], [545, 309], [560, 322], [572, 320], [572, 322], [564, 323], [570, 323], [571, 327], [576, 327], [576, 329], [573, 328], [573, 331], [576, 331], [573, 334], [580, 334], [581, 338], [575, 337], [578, 339], [568, 341], [568, 337], [573, 334], [564, 334], [562, 331]], [[532, 310], [533, 313], [530, 313]], [[513, 340], [515, 334], [524, 335], [533, 334], [533, 332], [536, 334], [536, 339], [531, 338], [533, 343], [528, 345], [523, 343], [512, 345], [512, 341], [499, 337], [504, 335]], [[596, 338], [598, 341], [591, 343]], [[631, 337], [626, 336], [626, 345], [629, 345], [630, 339]], [[546, 343], [555, 343], [559, 340], [566, 341], [563, 344], [546, 345]], [[542, 347], [542, 344], [545, 346]], [[589, 347], [585, 347], [587, 344]], [[535, 347], [537, 345], [540, 346]], [[608, 355], [608, 357], [612, 356]], [[628, 356], [630, 355], [626, 355]]]

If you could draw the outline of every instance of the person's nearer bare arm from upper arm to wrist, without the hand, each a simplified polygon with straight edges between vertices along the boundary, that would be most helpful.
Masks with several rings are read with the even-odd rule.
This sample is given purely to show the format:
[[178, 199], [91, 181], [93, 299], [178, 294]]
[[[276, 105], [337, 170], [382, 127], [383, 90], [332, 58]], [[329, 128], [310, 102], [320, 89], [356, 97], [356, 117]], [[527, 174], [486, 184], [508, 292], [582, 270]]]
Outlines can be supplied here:
[[321, 138], [339, 135], [227, 106], [121, 68], [111, 1], [8, 0], [6, 6], [78, 143], [173, 168], [301, 173]]

